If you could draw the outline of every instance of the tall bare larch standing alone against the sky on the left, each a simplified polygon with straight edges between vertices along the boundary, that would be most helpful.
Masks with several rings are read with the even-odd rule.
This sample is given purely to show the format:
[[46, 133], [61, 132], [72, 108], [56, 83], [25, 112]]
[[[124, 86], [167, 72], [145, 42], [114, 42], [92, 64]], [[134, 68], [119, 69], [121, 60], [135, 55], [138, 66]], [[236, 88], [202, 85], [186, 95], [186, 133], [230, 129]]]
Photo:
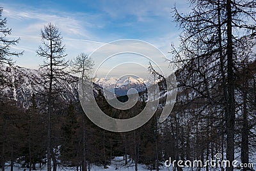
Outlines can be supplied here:
[[[45, 70], [43, 83], [47, 89], [47, 171], [51, 171], [51, 157], [56, 161], [55, 156], [51, 154], [51, 117], [54, 107], [54, 94], [60, 93], [60, 87], [56, 87], [58, 82], [65, 78], [67, 73], [68, 61], [65, 60], [65, 45], [62, 45], [62, 36], [58, 27], [49, 23], [41, 30], [42, 45], [38, 47], [36, 54], [45, 59], [41, 68]], [[53, 170], [56, 171], [56, 163]]]

